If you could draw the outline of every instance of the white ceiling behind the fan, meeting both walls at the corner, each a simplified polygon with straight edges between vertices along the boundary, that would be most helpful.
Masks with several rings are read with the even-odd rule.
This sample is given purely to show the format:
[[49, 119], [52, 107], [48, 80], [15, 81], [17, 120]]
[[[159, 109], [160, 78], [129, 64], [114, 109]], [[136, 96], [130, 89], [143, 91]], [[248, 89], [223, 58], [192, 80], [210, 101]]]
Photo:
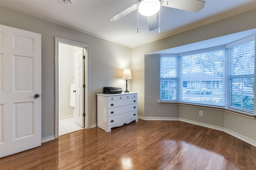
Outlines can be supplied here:
[[128, 47], [154, 41], [215, 20], [256, 8], [256, 0], [204, 0], [200, 12], [188, 12], [161, 6], [160, 28], [148, 31], [147, 19], [137, 10], [110, 22], [109, 18], [136, 3], [136, 0], [0, 0], [0, 5], [26, 12], [79, 31]]

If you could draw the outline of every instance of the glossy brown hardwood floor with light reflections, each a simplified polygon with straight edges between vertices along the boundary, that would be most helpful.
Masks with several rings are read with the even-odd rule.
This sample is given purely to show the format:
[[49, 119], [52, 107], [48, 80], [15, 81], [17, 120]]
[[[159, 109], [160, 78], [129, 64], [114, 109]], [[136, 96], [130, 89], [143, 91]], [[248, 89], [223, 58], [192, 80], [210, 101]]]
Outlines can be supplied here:
[[181, 121], [82, 129], [0, 159], [1, 170], [256, 170], [256, 147]]

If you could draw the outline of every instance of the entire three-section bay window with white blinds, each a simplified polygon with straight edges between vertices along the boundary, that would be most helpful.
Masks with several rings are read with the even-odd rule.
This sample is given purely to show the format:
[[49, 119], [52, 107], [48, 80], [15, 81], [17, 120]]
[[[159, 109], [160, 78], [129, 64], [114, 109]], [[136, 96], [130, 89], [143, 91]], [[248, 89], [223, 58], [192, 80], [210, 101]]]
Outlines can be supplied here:
[[225, 46], [161, 55], [160, 102], [254, 113], [254, 36]]

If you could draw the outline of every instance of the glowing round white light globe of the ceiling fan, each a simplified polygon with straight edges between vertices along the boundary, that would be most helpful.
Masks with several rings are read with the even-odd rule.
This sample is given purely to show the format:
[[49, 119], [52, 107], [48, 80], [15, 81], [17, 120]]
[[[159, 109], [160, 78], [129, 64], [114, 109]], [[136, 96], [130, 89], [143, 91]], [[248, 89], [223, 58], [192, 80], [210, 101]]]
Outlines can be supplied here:
[[160, 10], [159, 0], [143, 0], [139, 4], [139, 12], [143, 16], [152, 16]]

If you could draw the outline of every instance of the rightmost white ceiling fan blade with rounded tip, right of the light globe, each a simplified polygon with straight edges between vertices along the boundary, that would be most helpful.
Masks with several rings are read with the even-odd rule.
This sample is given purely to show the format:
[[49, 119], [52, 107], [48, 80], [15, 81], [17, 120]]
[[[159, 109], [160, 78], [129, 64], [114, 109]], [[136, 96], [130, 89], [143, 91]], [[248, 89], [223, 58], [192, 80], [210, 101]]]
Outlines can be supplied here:
[[205, 1], [202, 0], [161, 0], [162, 6], [191, 12], [200, 11], [204, 8], [204, 4]]

